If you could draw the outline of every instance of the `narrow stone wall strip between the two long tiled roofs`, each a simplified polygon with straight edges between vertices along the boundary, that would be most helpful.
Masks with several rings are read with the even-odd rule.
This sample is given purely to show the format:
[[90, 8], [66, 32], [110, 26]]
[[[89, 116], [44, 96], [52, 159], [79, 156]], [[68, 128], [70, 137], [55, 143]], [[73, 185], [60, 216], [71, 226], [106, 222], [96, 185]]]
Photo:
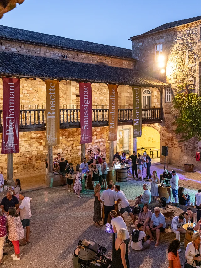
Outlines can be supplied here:
[[[34, 56], [44, 56], [60, 59], [63, 61], [75, 61], [86, 63], [104, 63], [108, 66], [122, 67], [133, 69], [135, 60], [121, 59], [111, 56], [100, 56], [90, 53], [84, 53], [79, 51], [69, 51], [61, 48], [53, 48], [42, 45], [31, 45], [17, 41], [7, 41], [0, 39], [0, 51], [13, 51], [21, 54], [29, 54]], [[67, 59], [62, 56], [67, 55]]]

